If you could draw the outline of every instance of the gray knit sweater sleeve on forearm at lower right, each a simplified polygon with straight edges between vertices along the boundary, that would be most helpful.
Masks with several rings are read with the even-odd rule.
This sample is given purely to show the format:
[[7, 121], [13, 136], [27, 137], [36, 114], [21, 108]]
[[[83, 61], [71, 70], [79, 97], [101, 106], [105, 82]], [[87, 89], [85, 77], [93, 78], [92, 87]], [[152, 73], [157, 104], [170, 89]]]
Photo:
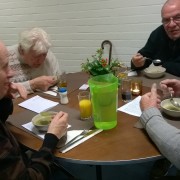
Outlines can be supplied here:
[[161, 153], [180, 169], [180, 130], [168, 124], [157, 108], [144, 111], [140, 121]]

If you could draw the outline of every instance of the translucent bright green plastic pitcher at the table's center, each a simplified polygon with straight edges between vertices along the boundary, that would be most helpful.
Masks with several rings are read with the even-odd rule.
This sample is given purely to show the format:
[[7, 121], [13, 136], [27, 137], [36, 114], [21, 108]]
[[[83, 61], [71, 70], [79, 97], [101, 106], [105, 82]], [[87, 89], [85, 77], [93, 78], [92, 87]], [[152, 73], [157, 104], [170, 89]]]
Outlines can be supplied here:
[[117, 125], [118, 78], [113, 74], [92, 77], [88, 81], [91, 93], [94, 125], [112, 129]]

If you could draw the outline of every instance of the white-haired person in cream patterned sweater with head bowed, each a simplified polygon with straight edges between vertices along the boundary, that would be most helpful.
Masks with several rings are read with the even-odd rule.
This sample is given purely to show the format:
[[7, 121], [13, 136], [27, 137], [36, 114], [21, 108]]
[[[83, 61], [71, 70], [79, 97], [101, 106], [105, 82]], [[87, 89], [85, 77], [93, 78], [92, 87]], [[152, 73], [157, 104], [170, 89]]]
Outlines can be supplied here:
[[15, 72], [12, 82], [21, 83], [28, 91], [46, 91], [57, 83], [61, 73], [48, 34], [41, 28], [23, 31], [19, 43], [9, 46], [9, 65]]

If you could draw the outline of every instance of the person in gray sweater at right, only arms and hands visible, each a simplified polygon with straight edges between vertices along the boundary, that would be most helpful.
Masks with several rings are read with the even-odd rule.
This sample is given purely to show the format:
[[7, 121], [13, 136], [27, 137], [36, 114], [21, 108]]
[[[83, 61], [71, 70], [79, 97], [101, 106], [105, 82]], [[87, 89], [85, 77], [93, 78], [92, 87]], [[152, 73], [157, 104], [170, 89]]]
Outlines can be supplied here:
[[[179, 80], [167, 79], [161, 81], [160, 86], [165, 94], [169, 90], [175, 95], [180, 94]], [[158, 169], [153, 169], [152, 177], [155, 179], [161, 179], [161, 175], [165, 171], [167, 174], [171, 163], [180, 170], [180, 129], [168, 124], [163, 118], [159, 110], [160, 101], [156, 84], [152, 85], [151, 92], [144, 94], [140, 101], [142, 110], [140, 121], [160, 152], [167, 158], [167, 160], [163, 159], [156, 162], [159, 165], [159, 167], [156, 166], [159, 168], [159, 172]]]

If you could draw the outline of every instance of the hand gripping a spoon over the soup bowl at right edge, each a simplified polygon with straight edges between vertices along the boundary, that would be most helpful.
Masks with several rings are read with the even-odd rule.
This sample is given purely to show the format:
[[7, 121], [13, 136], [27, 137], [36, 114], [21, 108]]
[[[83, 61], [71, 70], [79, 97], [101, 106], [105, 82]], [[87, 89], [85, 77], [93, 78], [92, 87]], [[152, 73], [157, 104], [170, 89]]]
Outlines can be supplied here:
[[180, 81], [177, 79], [166, 79], [160, 82], [160, 87], [164, 96], [169, 96], [170, 92], [174, 96], [180, 95]]

